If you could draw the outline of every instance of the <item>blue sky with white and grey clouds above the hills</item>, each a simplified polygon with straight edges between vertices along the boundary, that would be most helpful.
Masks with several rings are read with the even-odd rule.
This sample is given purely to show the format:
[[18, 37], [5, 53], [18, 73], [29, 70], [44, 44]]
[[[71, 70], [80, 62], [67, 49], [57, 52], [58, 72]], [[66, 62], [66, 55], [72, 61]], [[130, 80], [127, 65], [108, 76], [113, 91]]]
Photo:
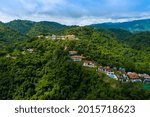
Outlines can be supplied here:
[[0, 0], [0, 21], [89, 25], [150, 18], [150, 0]]

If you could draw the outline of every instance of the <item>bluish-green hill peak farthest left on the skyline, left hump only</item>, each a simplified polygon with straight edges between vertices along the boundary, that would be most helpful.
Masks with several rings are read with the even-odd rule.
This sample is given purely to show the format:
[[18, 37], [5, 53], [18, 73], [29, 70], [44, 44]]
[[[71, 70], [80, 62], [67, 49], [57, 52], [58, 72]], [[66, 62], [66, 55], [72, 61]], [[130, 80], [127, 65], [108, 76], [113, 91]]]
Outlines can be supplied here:
[[6, 25], [22, 34], [26, 34], [35, 23], [28, 20], [14, 20], [6, 23]]

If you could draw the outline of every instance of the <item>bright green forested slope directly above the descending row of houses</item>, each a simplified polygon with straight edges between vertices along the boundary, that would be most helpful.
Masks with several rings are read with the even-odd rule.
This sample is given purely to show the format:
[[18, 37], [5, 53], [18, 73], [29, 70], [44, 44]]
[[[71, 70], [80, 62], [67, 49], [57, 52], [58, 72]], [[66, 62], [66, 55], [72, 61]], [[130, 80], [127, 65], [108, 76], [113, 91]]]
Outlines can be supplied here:
[[72, 28], [66, 32], [78, 35], [83, 40], [72, 44], [72, 48], [99, 64], [150, 73], [149, 51], [136, 50], [105, 31], [88, 27]]

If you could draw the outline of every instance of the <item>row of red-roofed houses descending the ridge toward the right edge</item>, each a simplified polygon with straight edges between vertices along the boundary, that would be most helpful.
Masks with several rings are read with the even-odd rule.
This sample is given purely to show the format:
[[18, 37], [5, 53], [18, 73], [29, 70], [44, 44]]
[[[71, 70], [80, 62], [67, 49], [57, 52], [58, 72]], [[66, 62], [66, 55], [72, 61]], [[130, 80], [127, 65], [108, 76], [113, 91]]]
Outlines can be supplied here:
[[135, 72], [126, 72], [125, 68], [111, 68], [110, 66], [97, 66], [96, 62], [87, 60], [86, 57], [79, 55], [77, 51], [69, 51], [70, 58], [75, 62], [83, 62], [84, 67], [96, 68], [97, 72], [104, 73], [112, 79], [119, 80], [121, 82], [144, 82], [149, 81], [150, 75], [148, 74], [138, 74]]

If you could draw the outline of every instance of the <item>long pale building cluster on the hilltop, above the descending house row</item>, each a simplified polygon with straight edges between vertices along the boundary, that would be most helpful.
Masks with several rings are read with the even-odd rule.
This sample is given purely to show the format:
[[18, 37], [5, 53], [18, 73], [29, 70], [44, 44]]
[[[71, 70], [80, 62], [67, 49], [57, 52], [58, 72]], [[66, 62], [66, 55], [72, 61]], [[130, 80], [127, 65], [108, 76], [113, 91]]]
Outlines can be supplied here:
[[46, 39], [52, 39], [52, 40], [79, 40], [75, 35], [39, 35], [38, 38], [46, 38]]

